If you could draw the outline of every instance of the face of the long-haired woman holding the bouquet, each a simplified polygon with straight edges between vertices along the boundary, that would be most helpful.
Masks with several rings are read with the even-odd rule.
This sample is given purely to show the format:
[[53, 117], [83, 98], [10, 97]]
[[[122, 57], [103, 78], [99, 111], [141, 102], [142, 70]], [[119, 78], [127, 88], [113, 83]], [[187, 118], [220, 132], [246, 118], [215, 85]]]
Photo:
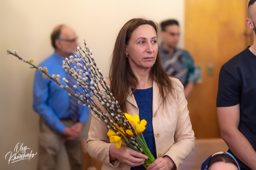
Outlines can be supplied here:
[[151, 25], [140, 25], [135, 29], [125, 49], [132, 71], [150, 69], [156, 62], [157, 52], [156, 31]]

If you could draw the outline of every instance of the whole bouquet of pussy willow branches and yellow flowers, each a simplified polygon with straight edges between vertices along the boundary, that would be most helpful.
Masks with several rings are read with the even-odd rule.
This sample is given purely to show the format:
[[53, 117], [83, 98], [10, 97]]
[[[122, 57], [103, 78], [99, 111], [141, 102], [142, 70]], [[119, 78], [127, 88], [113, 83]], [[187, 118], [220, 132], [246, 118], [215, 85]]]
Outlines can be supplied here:
[[[142, 134], [146, 129], [147, 121], [140, 121], [138, 115], [132, 116], [124, 113], [120, 109], [118, 101], [115, 100], [115, 97], [110, 92], [106, 79], [95, 63], [92, 51], [89, 50], [85, 42], [84, 48], [77, 46], [76, 51], [77, 55], [70, 55], [70, 57], [65, 58], [62, 63], [63, 69], [76, 80], [76, 85], [73, 86], [68, 83], [66, 78], [62, 78], [62, 80], [67, 83], [67, 85], [61, 84], [59, 82], [59, 80], [61, 80], [60, 75], [49, 75], [47, 73], [47, 67], [35, 66], [33, 59], [22, 59], [16, 51], [13, 53], [7, 50], [7, 53], [30, 64], [31, 68], [42, 71], [45, 78], [50, 78], [52, 81], [55, 81], [56, 84], [60, 85], [62, 89], [67, 90], [68, 95], [76, 97], [79, 104], [88, 106], [99, 121], [103, 121], [108, 125], [109, 141], [115, 143], [117, 148], [120, 148], [122, 141], [124, 141], [129, 148], [147, 155], [148, 159], [145, 160], [145, 164], [143, 165], [146, 168], [155, 160]], [[77, 86], [81, 87], [83, 91], [77, 89]], [[102, 87], [102, 89], [99, 86]], [[73, 93], [70, 88], [76, 89], [76, 93]], [[95, 100], [100, 102], [108, 113], [103, 113], [99, 106], [97, 106]]]

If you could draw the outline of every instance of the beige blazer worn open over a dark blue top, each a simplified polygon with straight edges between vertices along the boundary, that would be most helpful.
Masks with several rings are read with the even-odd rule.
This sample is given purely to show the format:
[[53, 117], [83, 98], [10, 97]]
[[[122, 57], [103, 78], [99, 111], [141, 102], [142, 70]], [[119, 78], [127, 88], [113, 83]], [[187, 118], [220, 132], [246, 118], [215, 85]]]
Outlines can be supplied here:
[[[189, 118], [188, 102], [184, 96], [182, 83], [177, 78], [170, 78], [173, 85], [173, 96], [164, 97], [159, 94], [157, 83], [153, 82], [153, 129], [156, 141], [157, 157], [168, 155], [175, 162], [177, 169], [188, 157], [195, 146], [195, 134]], [[139, 115], [134, 96], [130, 93], [126, 99], [127, 113]], [[146, 126], [147, 127], [147, 126]], [[87, 149], [91, 157], [103, 162], [102, 169], [129, 170], [131, 167], [119, 160], [109, 162], [108, 127], [104, 122], [92, 117], [88, 134]], [[114, 144], [115, 145], [115, 144]]]

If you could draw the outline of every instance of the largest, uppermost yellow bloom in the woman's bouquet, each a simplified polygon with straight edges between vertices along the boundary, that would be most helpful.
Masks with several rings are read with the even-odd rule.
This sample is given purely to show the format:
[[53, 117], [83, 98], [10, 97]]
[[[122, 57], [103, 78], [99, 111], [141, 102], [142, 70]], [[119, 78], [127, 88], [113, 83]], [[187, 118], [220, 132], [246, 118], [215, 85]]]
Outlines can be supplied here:
[[[141, 120], [140, 122], [140, 117], [138, 115], [135, 115], [132, 117], [132, 115], [129, 115], [125, 113], [125, 117], [129, 121], [129, 123], [132, 126], [132, 129], [136, 131], [138, 134], [141, 134], [143, 131], [146, 129], [147, 121], [146, 120]], [[127, 132], [127, 131], [126, 131]], [[128, 133], [127, 133], [128, 134]], [[129, 134], [131, 136], [131, 134]]]

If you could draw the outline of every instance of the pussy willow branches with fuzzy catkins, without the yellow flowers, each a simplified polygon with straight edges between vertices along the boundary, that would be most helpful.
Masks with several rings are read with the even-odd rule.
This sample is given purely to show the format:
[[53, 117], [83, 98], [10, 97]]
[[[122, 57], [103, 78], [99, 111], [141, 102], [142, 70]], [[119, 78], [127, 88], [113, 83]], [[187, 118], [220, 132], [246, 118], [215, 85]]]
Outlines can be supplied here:
[[[88, 106], [88, 108], [91, 108], [92, 111], [96, 114], [95, 116], [97, 118], [99, 118], [99, 120], [104, 121], [108, 125], [109, 129], [113, 130], [116, 134], [122, 134], [122, 136], [123, 136], [123, 138], [125, 140], [125, 143], [129, 142], [135, 148], [139, 148], [141, 150], [140, 146], [138, 146], [138, 143], [135, 142], [136, 141], [135, 138], [138, 138], [137, 137], [138, 134], [136, 134], [134, 129], [132, 129], [131, 124], [129, 123], [129, 121], [125, 117], [124, 112], [122, 112], [122, 110], [120, 109], [120, 106], [118, 105], [118, 102], [115, 101], [115, 97], [113, 96], [113, 94], [109, 90], [109, 85], [106, 84], [106, 80], [104, 79], [102, 72], [99, 70], [99, 68], [97, 67], [97, 65], [95, 63], [95, 60], [93, 59], [92, 52], [88, 49], [88, 46], [86, 46], [86, 43], [84, 43], [84, 45], [85, 45], [84, 50], [81, 47], [77, 48], [77, 52], [79, 53], [78, 57], [81, 59], [81, 60], [80, 59], [78, 60], [78, 62], [81, 65], [79, 66], [79, 64], [77, 64], [77, 66], [79, 66], [81, 68], [83, 73], [86, 73], [86, 72], [88, 73], [89, 72], [92, 75], [92, 77], [91, 77], [91, 76], [88, 76], [88, 74], [86, 74], [87, 75], [86, 78], [88, 78], [87, 80], [89, 80], [89, 82], [92, 82], [91, 80], [93, 80], [94, 81], [94, 85], [90, 85], [87, 82], [87, 80], [86, 81], [81, 81], [80, 80], [80, 78], [78, 76], [79, 74], [77, 74], [77, 72], [78, 73], [81, 73], [81, 72], [77, 69], [76, 66], [74, 66], [72, 64], [73, 60], [65, 59], [65, 62], [63, 61], [63, 64], [64, 64], [63, 66], [65, 66], [65, 64], [68, 65], [67, 70], [65, 69], [65, 71], [67, 71], [68, 74], [72, 75], [72, 74], [76, 73], [77, 76], [76, 75], [75, 76], [72, 75], [72, 76], [76, 79], [77, 85], [79, 85], [83, 89], [83, 91], [84, 91], [84, 93], [86, 93], [86, 95], [88, 94], [87, 90], [92, 90], [92, 95], [97, 97], [97, 99], [99, 101], [104, 103], [102, 105], [108, 111], [108, 113], [102, 113], [101, 112], [101, 114], [100, 114], [98, 111], [101, 111], [101, 110], [97, 106], [97, 104], [95, 104], [95, 102], [93, 101], [92, 97], [90, 97], [90, 96], [88, 97], [86, 95], [82, 95], [83, 93], [80, 92], [79, 89], [76, 88], [76, 90], [79, 92], [78, 94], [81, 95], [81, 98], [82, 98], [81, 99], [77, 94], [74, 94], [73, 92], [71, 92], [68, 87], [65, 87], [64, 85], [62, 85], [57, 80], [60, 77], [57, 77], [57, 79], [56, 79], [56, 78], [53, 78], [51, 75], [49, 75], [47, 73], [47, 69], [40, 69], [40, 67], [35, 66], [31, 61], [22, 59], [22, 57], [20, 57], [16, 52], [13, 53], [13, 52], [10, 52], [10, 50], [7, 50], [7, 52], [12, 54], [12, 55], [14, 55], [19, 60], [22, 60], [22, 61], [28, 63], [33, 68], [38, 69], [39, 71], [44, 73], [45, 76], [47, 76], [47, 78], [51, 79], [56, 84], [60, 85], [60, 87], [62, 89], [66, 90], [70, 94], [70, 96], [73, 96], [76, 99], [78, 99], [81, 103], [83, 103], [84, 106]], [[85, 55], [87, 60], [83, 60], [84, 57], [83, 57], [82, 53], [80, 52], [80, 50], [83, 51], [83, 54]], [[77, 56], [76, 56], [76, 58], [77, 58]], [[78, 62], [75, 62], [75, 63], [78, 63]], [[88, 71], [86, 71], [86, 69], [83, 66], [85, 66]], [[67, 81], [65, 81], [65, 82], [67, 83]], [[71, 88], [73, 88], [72, 85], [70, 85], [69, 83], [67, 83], [67, 84]], [[104, 93], [101, 92], [98, 84], [100, 84], [102, 86]], [[88, 87], [88, 89], [85, 88], [86, 86]], [[104, 94], [106, 94], [106, 96]], [[107, 99], [107, 97], [108, 97], [108, 99]], [[85, 99], [87, 101], [87, 103], [83, 99]], [[91, 103], [91, 105], [88, 104], [88, 103]], [[114, 112], [114, 113], [117, 112], [117, 114], [114, 114], [115, 116], [113, 116], [112, 112]], [[111, 117], [113, 118], [115, 123], [111, 122], [111, 118], [109, 118], [109, 114], [111, 115]], [[121, 129], [118, 129], [116, 127], [116, 124], [119, 127], [122, 127], [124, 129], [124, 131], [125, 131], [125, 129], [129, 129], [130, 131], [132, 131], [135, 138], [129, 136], [128, 134], [126, 134], [126, 132], [123, 133], [121, 131]]]

